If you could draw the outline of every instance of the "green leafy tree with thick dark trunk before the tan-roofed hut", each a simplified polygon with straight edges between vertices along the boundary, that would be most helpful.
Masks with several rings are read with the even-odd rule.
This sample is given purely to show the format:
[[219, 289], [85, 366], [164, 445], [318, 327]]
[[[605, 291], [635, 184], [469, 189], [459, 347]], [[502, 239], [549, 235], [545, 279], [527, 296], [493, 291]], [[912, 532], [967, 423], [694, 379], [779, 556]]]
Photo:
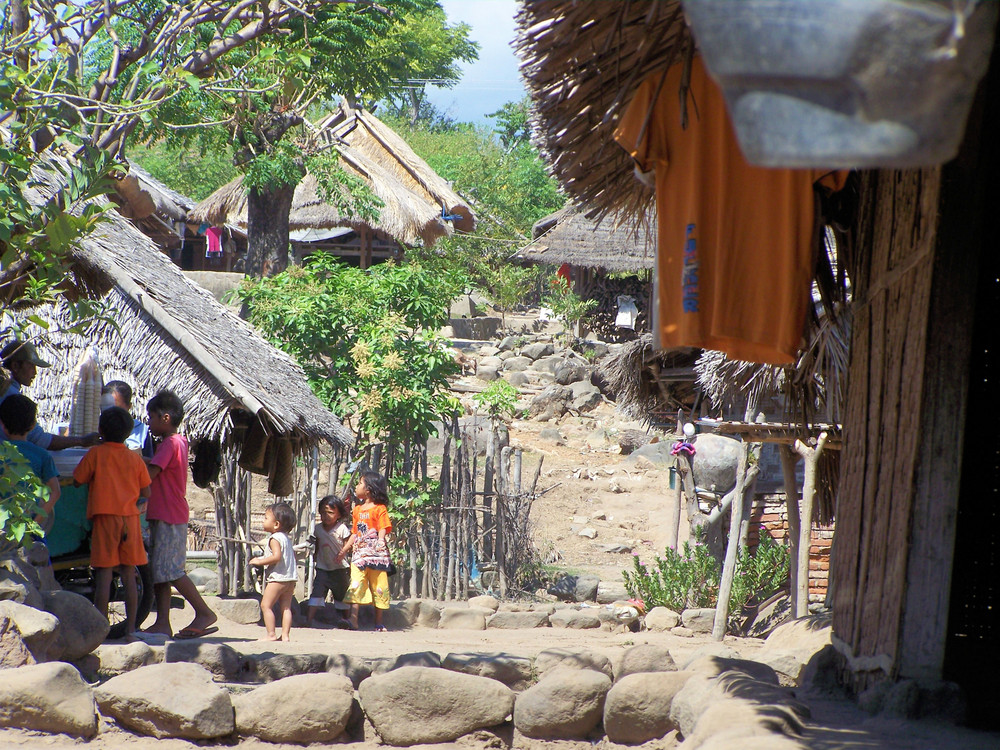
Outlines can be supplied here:
[[[435, 84], [450, 85], [458, 75], [454, 56], [476, 54], [467, 35], [467, 27], [448, 27], [436, 0], [330, 4], [292, 20], [280, 46], [255, 41], [227, 57], [218, 66], [223, 83], [174, 98], [140, 135], [231, 147], [248, 191], [247, 273], [272, 275], [288, 264], [288, 213], [307, 171], [342, 213], [374, 210], [373, 196], [316, 138], [310, 110], [337, 94], [352, 105], [370, 103], [428, 71], [452, 76]], [[194, 129], [205, 124], [214, 128]]]

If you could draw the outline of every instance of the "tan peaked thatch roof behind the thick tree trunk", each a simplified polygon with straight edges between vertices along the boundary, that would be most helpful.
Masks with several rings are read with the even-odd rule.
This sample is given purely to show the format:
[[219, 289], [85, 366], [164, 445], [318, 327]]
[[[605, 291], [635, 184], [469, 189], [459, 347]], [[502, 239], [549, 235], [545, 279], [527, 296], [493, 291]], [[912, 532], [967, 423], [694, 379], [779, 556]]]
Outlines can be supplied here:
[[[350, 227], [381, 231], [404, 245], [432, 245], [455, 229], [475, 228], [467, 201], [412, 148], [378, 118], [346, 103], [315, 125], [315, 138], [334, 149], [340, 164], [361, 178], [384, 204], [378, 219], [345, 216], [327, 203], [315, 176], [307, 174], [296, 186], [289, 214], [289, 229]], [[248, 191], [243, 178], [223, 185], [189, 214], [193, 221], [235, 224], [246, 230]], [[445, 219], [445, 215], [455, 217]]]

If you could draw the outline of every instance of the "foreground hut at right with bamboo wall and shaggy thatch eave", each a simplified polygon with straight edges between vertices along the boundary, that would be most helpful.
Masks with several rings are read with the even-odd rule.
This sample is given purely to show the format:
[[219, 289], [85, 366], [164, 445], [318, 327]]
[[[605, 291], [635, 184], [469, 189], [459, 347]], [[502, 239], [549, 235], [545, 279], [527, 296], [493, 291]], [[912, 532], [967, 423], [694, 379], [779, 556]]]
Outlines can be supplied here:
[[[677, 59], [689, 33], [680, 2], [531, 0], [518, 25], [556, 176], [597, 213], [638, 213], [649, 191], [610, 136], [638, 83]], [[831, 563], [843, 682], [861, 691], [949, 679], [966, 689], [973, 720], [993, 725], [1000, 431], [980, 421], [998, 393], [988, 375], [1000, 272], [984, 210], [998, 127], [994, 50], [954, 161], [861, 175], [857, 242], [845, 257], [853, 328]]]

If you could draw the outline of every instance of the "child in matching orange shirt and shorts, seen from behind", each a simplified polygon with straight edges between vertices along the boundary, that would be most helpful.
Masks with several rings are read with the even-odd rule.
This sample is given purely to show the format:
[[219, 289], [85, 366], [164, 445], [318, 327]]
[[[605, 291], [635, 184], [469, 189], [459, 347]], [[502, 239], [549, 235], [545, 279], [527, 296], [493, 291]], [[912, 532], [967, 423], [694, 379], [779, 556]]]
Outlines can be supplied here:
[[140, 503], [149, 497], [149, 471], [143, 460], [125, 446], [132, 432], [132, 415], [113, 406], [98, 422], [104, 442], [95, 445], [73, 471], [73, 484], [89, 484], [87, 518], [93, 524], [90, 565], [94, 568], [94, 606], [108, 616], [111, 573], [116, 568], [125, 586], [125, 635], [135, 632], [139, 605], [135, 566], [146, 564], [139, 522]]

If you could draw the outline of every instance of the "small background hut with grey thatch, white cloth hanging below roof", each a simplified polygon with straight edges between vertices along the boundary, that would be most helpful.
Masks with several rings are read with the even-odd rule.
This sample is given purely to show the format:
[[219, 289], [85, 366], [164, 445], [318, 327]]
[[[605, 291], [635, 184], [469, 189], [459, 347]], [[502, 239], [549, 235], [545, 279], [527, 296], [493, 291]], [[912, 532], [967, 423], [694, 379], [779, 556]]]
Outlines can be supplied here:
[[[655, 219], [618, 225], [611, 219], [588, 219], [583, 211], [570, 205], [536, 221], [531, 236], [531, 243], [511, 259], [565, 266], [574, 291], [584, 299], [597, 300], [587, 326], [602, 340], [634, 340], [648, 330]], [[620, 296], [630, 297], [638, 310], [632, 328], [616, 325]]]

